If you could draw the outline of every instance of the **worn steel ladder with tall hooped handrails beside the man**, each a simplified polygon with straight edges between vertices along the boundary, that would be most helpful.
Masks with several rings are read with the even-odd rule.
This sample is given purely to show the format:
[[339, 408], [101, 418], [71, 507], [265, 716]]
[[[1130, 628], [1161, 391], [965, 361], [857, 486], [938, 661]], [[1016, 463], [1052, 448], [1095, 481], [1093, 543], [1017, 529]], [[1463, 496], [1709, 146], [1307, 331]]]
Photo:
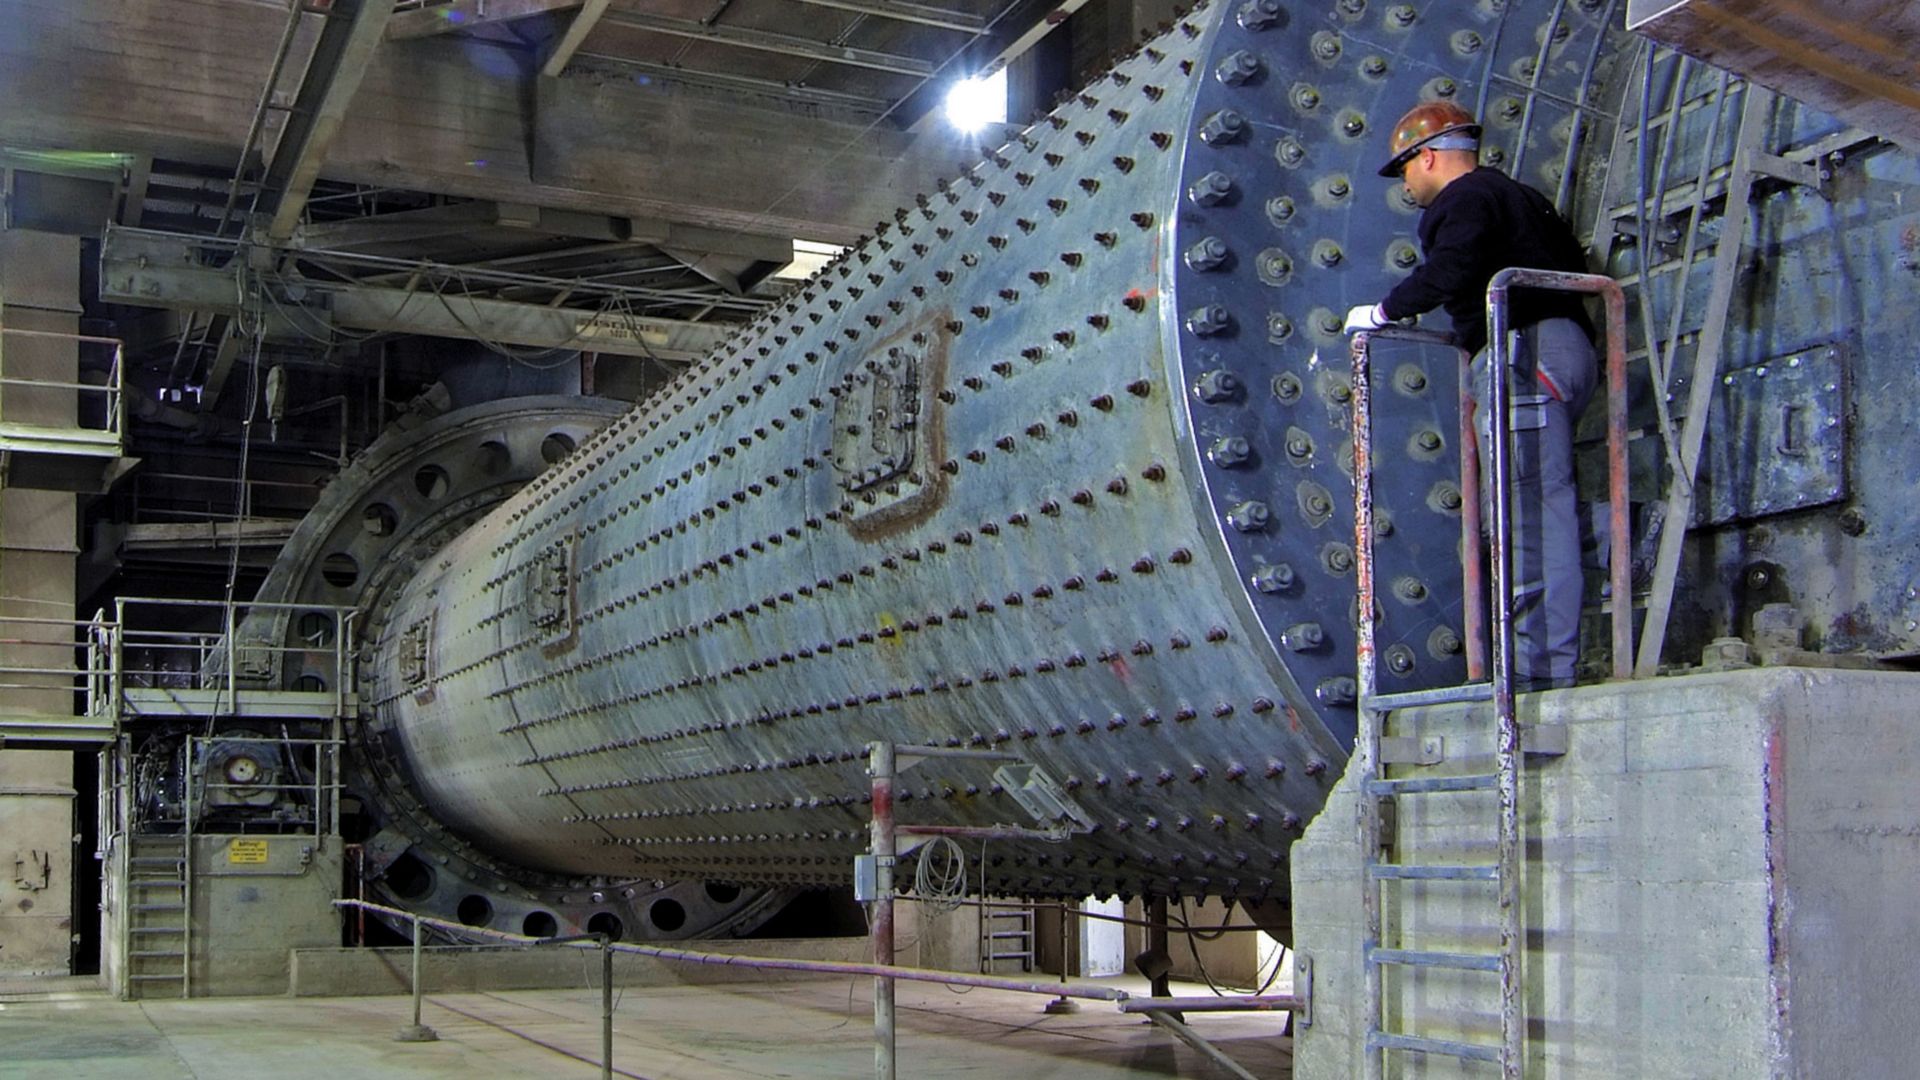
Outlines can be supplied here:
[[[1509, 292], [1513, 288], [1551, 288], [1565, 292], [1597, 294], [1607, 306], [1607, 461], [1609, 461], [1609, 507], [1613, 552], [1628, 550], [1628, 492], [1626, 492], [1626, 302], [1613, 279], [1601, 275], [1574, 275], [1559, 271], [1507, 269], [1494, 277], [1488, 286], [1488, 340], [1490, 367], [1503, 373], [1511, 367], [1509, 342]], [[1461, 388], [1461, 577], [1463, 577], [1463, 640], [1467, 653], [1467, 678], [1459, 686], [1440, 686], [1404, 694], [1379, 692], [1377, 640], [1380, 609], [1375, 590], [1375, 513], [1373, 513], [1373, 361], [1375, 340], [1402, 340], [1425, 346], [1455, 346], [1450, 334], [1432, 331], [1386, 327], [1380, 331], [1354, 334], [1354, 550], [1356, 577], [1359, 586], [1357, 603], [1357, 684], [1359, 684], [1359, 732], [1356, 738], [1359, 796], [1361, 796], [1361, 851], [1365, 857], [1363, 878], [1363, 917], [1365, 938], [1361, 961], [1365, 967], [1367, 997], [1367, 1042], [1365, 1074], [1384, 1076], [1388, 1051], [1413, 1051], [1448, 1055], [1465, 1061], [1498, 1065], [1507, 1080], [1519, 1080], [1524, 1057], [1524, 1015], [1521, 1005], [1521, 765], [1523, 732], [1513, 701], [1513, 500], [1511, 500], [1511, 434], [1513, 417], [1509, 411], [1511, 388], [1507, 379], [1488, 379], [1490, 413], [1490, 507], [1488, 523], [1492, 582], [1482, 582], [1480, 575], [1480, 475], [1473, 419], [1467, 409], [1471, 388], [1471, 356], [1457, 346], [1459, 388]], [[1615, 596], [1628, 596], [1630, 563], [1624, 557], [1611, 559]], [[1488, 596], [1500, 598], [1488, 605]], [[1492, 607], [1492, 665], [1488, 667], [1480, 634], [1488, 623]], [[1624, 678], [1632, 663], [1632, 607], [1617, 603], [1613, 607], [1613, 667], [1615, 676]], [[1388, 732], [1392, 715], [1400, 709], [1444, 703], [1490, 701], [1494, 713], [1494, 767], [1490, 773], [1471, 773], [1457, 776], [1386, 776], [1386, 767], [1396, 763], [1436, 765], [1442, 755], [1419, 746], [1419, 740]], [[1475, 715], [1482, 715], [1475, 711]], [[1540, 755], [1565, 753], [1563, 742], [1540, 740], [1532, 748]], [[1475, 863], [1421, 863], [1392, 859], [1386, 851], [1405, 853], [1402, 846], [1390, 844], [1394, 830], [1388, 815], [1398, 799], [1494, 792], [1498, 813], [1494, 821], [1494, 861]], [[1498, 915], [1500, 945], [1496, 951], [1444, 951], [1404, 947], [1388, 944], [1384, 919], [1384, 890], [1404, 882], [1480, 882], [1494, 888], [1494, 909]], [[1384, 997], [1388, 972], [1411, 972], [1421, 969], [1473, 970], [1498, 976], [1500, 992], [1500, 1042], [1444, 1040], [1415, 1034], [1413, 1030], [1388, 1030], [1384, 1022]]]

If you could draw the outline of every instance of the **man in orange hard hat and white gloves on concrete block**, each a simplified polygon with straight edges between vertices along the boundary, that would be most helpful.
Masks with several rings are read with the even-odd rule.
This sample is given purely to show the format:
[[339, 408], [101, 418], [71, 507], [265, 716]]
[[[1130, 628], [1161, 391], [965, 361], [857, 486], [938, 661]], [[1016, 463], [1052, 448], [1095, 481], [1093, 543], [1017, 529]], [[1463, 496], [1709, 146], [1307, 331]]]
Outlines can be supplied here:
[[[1379, 304], [1354, 307], [1346, 331], [1373, 331], [1446, 307], [1475, 352], [1473, 400], [1480, 454], [1486, 419], [1486, 284], [1507, 267], [1586, 273], [1586, 256], [1553, 202], [1482, 167], [1480, 125], [1452, 102], [1415, 106], [1394, 125], [1398, 179], [1423, 208], [1425, 261]], [[1580, 528], [1572, 425], [1594, 394], [1592, 323], [1576, 294], [1513, 290], [1513, 680], [1523, 690], [1571, 686], [1580, 651]], [[1486, 477], [1482, 469], [1482, 477]]]

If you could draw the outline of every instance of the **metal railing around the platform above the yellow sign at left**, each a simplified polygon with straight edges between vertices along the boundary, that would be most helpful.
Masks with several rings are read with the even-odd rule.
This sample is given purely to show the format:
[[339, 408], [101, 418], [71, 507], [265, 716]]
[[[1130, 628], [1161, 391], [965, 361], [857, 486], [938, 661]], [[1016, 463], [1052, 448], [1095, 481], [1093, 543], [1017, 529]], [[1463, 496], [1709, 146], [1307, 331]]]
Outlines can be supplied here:
[[[140, 713], [129, 698], [134, 690], [213, 690], [217, 694], [209, 701], [180, 696], [182, 707], [213, 713], [238, 713], [252, 696], [288, 690], [324, 694], [328, 715], [334, 717], [355, 709], [355, 607], [152, 596], [123, 596], [113, 605], [119, 625], [113, 663], [123, 688], [123, 709], [131, 715]], [[263, 619], [269, 634], [242, 638], [240, 630], [252, 613], [269, 615]], [[301, 686], [298, 676], [292, 686], [284, 686], [294, 661], [305, 665], [315, 680], [311, 686]], [[269, 678], [280, 678], [282, 684], [269, 686]]]

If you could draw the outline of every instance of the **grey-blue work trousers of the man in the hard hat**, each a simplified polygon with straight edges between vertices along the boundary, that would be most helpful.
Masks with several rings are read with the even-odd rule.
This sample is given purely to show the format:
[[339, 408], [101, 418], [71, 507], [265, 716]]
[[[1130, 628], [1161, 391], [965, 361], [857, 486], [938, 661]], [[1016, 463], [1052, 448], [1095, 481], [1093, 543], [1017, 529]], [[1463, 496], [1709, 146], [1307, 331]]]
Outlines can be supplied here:
[[[1594, 342], [1572, 319], [1513, 332], [1513, 684], [1571, 686], [1580, 659], [1580, 509], [1572, 482], [1572, 427], [1594, 396]], [[1482, 521], [1494, 525], [1486, 363], [1473, 361], [1480, 434]]]

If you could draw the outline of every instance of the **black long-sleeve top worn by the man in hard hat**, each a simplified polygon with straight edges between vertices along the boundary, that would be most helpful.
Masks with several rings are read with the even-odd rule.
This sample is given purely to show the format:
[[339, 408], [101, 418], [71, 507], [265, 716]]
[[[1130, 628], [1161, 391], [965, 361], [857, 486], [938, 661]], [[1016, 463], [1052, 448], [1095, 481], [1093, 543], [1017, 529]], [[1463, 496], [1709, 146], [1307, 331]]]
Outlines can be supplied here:
[[[1507, 267], [1586, 273], [1586, 254], [1553, 202], [1500, 169], [1478, 167], [1440, 188], [1421, 215], [1425, 261], [1386, 294], [1388, 319], [1446, 307], [1463, 348], [1486, 348], [1486, 282]], [[1511, 292], [1515, 329], [1542, 319], [1594, 325], [1571, 292]]]

